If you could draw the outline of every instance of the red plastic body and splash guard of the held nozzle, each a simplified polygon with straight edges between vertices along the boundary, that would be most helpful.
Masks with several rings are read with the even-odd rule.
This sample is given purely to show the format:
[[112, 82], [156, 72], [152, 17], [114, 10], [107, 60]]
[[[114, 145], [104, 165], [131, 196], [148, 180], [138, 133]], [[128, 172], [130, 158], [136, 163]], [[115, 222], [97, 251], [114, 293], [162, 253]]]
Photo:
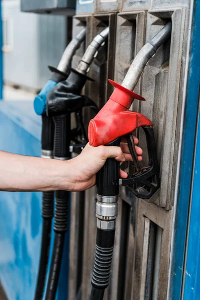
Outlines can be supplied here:
[[115, 89], [109, 100], [89, 122], [88, 138], [91, 146], [105, 145], [139, 126], [153, 125], [141, 113], [128, 110], [134, 98], [145, 100], [143, 97], [110, 79], [108, 81]]

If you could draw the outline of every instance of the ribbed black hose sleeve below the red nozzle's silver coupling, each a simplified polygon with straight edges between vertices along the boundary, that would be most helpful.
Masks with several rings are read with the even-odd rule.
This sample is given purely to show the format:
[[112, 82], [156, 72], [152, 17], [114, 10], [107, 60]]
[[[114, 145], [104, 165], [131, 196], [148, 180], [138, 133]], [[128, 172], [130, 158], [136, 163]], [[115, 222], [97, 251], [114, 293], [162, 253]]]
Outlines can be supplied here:
[[115, 229], [102, 230], [97, 228], [96, 251], [94, 258], [91, 284], [97, 289], [105, 289], [109, 283], [109, 274], [114, 248]]

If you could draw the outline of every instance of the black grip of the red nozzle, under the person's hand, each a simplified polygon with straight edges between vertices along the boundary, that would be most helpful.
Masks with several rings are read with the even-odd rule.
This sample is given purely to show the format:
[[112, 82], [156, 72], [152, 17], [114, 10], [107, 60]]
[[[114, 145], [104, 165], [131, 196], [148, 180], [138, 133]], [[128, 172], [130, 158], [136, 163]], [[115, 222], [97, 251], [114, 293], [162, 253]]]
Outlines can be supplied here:
[[[119, 146], [120, 138], [107, 144], [107, 146]], [[97, 194], [102, 196], [115, 196], [119, 192], [119, 162], [114, 158], [107, 158], [104, 166], [96, 173]]]

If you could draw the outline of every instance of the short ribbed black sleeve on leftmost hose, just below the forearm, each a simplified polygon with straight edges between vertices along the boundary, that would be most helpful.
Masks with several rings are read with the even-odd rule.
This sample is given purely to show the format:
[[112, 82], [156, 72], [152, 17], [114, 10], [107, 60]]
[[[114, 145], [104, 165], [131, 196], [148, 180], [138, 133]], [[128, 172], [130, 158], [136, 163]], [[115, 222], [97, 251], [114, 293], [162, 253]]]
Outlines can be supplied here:
[[42, 212], [41, 216], [43, 218], [53, 217], [53, 191], [43, 191], [42, 192]]

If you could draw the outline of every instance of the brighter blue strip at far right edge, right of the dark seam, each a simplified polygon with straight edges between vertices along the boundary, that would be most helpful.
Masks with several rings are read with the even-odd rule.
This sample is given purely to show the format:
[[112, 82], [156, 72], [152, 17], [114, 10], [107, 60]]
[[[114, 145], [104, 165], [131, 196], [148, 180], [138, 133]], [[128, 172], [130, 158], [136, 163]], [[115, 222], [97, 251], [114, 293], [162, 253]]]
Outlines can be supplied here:
[[[193, 47], [192, 51], [195, 56], [192, 55], [193, 65], [199, 65], [199, 29], [200, 29], [200, 3], [196, 1], [195, 7], [195, 22], [193, 33]], [[194, 56], [194, 57], [193, 57]], [[198, 59], [198, 60], [197, 60]], [[196, 90], [196, 96], [199, 101], [199, 87], [200, 87], [200, 70], [199, 67], [193, 68], [193, 75], [196, 80], [192, 81], [192, 86]], [[198, 103], [199, 104], [199, 103]], [[183, 299], [187, 300], [199, 300], [200, 299], [200, 118], [199, 118], [199, 106], [198, 106], [198, 124], [196, 130], [196, 145], [194, 155], [193, 166], [193, 180], [191, 187], [191, 199], [189, 210], [189, 224], [188, 224], [188, 246], [185, 254], [185, 280]]]

